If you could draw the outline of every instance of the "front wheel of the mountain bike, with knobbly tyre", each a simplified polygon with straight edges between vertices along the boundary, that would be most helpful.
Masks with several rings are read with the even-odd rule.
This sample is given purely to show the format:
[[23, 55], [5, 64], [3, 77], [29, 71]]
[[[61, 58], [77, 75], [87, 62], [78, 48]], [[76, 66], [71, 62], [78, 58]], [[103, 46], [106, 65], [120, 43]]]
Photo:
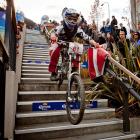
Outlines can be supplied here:
[[73, 74], [66, 94], [68, 120], [76, 125], [81, 122], [85, 110], [85, 90], [79, 75]]

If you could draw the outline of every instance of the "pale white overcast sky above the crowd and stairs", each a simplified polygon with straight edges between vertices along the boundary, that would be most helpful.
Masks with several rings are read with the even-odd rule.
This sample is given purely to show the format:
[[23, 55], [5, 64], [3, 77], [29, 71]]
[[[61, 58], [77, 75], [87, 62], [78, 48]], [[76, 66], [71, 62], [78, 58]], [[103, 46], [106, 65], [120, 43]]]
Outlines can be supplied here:
[[[115, 15], [118, 20], [122, 16], [129, 16], [129, 1], [130, 0], [100, 0], [100, 5], [104, 3], [101, 12], [104, 12], [104, 17], [99, 19], [104, 20], [108, 18], [108, 5], [110, 16]], [[91, 5], [94, 0], [14, 0], [15, 7], [22, 10], [25, 16], [36, 23], [41, 22], [43, 15], [48, 15], [49, 19], [60, 21], [62, 20], [61, 12], [64, 7], [74, 8], [82, 13], [88, 23], [90, 20]]]

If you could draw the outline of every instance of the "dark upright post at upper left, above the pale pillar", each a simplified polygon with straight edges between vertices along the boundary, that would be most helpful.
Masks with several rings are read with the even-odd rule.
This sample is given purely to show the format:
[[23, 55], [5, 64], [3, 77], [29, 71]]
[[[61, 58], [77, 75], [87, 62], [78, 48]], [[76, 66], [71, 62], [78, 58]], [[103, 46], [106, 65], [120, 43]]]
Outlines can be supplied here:
[[5, 45], [9, 50], [9, 69], [16, 70], [16, 17], [13, 0], [7, 0]]

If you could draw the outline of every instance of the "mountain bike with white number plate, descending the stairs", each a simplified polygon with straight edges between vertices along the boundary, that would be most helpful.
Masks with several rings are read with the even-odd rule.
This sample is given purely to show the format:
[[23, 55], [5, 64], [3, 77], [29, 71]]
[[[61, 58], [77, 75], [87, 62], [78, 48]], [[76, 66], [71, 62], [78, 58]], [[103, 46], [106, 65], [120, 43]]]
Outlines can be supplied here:
[[[61, 46], [61, 62], [58, 65], [58, 85], [62, 85], [64, 79], [68, 80], [66, 92], [66, 111], [68, 120], [76, 125], [81, 122], [85, 110], [85, 90], [80, 74], [72, 71], [72, 61], [76, 55], [81, 55], [83, 44], [76, 42], [59, 41]], [[80, 69], [80, 63], [79, 63]]]

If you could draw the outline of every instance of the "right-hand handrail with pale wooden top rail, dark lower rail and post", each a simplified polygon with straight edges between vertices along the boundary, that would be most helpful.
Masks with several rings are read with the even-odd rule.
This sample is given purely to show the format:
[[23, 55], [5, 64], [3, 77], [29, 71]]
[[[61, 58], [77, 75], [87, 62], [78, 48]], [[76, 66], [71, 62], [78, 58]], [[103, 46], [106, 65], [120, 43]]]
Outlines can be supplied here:
[[[120, 70], [122, 70], [125, 74], [129, 75], [134, 81], [140, 84], [140, 78], [134, 75], [132, 72], [127, 70], [124, 66], [119, 64], [116, 60], [114, 60], [111, 56], [108, 56], [108, 60], [116, 65]], [[118, 85], [123, 89], [123, 101], [124, 101], [124, 109], [123, 109], [123, 131], [124, 133], [130, 132], [130, 120], [129, 120], [129, 107], [128, 107], [128, 94], [130, 93], [133, 97], [135, 97], [138, 101], [140, 101], [140, 95], [133, 89], [133, 87], [124, 81], [122, 78], [118, 77], [113, 71], [106, 68], [106, 71], [109, 72], [116, 80]]]

